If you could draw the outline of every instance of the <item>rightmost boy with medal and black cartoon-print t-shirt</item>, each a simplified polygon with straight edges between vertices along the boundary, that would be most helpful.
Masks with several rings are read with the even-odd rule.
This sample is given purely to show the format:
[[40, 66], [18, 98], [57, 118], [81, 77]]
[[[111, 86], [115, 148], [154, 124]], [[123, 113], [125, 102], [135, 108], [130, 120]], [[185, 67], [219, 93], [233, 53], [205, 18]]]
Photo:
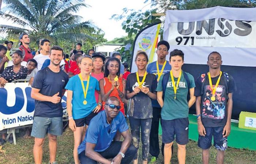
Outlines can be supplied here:
[[198, 146], [202, 149], [203, 163], [209, 162], [212, 136], [217, 149], [217, 163], [223, 163], [230, 134], [232, 95], [236, 84], [231, 75], [221, 71], [221, 55], [211, 52], [207, 65], [209, 72], [196, 80], [196, 114], [198, 124]]

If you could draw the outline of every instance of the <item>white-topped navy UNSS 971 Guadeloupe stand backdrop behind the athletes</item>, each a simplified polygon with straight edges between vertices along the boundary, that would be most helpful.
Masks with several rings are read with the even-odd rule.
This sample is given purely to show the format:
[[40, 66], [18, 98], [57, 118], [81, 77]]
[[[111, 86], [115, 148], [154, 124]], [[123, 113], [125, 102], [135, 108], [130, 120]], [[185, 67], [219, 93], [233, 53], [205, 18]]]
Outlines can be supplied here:
[[184, 71], [196, 79], [208, 71], [210, 52], [222, 55], [221, 69], [233, 76], [238, 89], [233, 94], [233, 119], [241, 111], [256, 112], [255, 15], [256, 8], [229, 7], [166, 12], [163, 39], [170, 44], [169, 52], [184, 52]]

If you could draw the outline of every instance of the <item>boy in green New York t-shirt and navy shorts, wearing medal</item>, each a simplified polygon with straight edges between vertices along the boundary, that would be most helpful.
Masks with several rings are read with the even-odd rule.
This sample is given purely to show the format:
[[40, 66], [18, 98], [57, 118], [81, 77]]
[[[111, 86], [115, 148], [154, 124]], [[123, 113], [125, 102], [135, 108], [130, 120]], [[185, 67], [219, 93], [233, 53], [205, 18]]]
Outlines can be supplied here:
[[[157, 86], [157, 101], [162, 107], [162, 141], [164, 163], [169, 164], [172, 157], [171, 147], [174, 136], [178, 145], [178, 161], [185, 164], [186, 144], [188, 143], [188, 110], [195, 103], [195, 81], [191, 74], [182, 71], [184, 53], [173, 50], [170, 53], [172, 70], [162, 75]], [[187, 101], [188, 90], [190, 99]], [[164, 96], [163, 96], [164, 95]]]

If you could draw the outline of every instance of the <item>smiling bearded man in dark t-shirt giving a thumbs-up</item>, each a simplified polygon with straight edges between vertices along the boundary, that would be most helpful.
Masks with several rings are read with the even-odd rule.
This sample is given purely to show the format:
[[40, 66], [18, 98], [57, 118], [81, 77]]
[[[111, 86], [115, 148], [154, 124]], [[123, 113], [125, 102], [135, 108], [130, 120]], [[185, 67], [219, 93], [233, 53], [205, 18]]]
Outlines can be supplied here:
[[62, 135], [63, 108], [61, 98], [65, 93], [68, 75], [60, 69], [63, 50], [53, 46], [50, 50], [50, 65], [35, 75], [31, 97], [35, 99], [35, 112], [31, 136], [35, 137], [35, 164], [42, 163], [43, 144], [48, 131], [50, 164], [56, 164], [57, 136]]

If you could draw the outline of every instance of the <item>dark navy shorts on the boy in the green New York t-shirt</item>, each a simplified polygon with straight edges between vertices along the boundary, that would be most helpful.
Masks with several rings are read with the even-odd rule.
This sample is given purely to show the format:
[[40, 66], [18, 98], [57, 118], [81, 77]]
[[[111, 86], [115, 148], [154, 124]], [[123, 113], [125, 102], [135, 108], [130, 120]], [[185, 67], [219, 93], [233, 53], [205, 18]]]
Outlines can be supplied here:
[[162, 141], [164, 144], [169, 144], [174, 141], [180, 145], [186, 145], [188, 143], [188, 118], [177, 118], [174, 120], [161, 119], [162, 125]]

